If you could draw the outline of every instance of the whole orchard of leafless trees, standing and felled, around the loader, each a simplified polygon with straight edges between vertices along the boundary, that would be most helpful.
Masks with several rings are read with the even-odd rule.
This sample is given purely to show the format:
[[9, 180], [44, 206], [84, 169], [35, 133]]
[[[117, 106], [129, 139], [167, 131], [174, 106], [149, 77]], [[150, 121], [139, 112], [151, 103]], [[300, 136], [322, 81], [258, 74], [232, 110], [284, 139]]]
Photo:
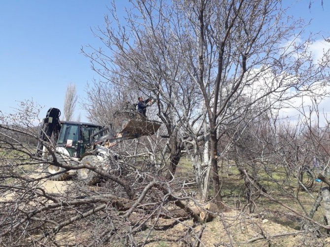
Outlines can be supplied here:
[[[82, 49], [102, 79], [81, 104], [108, 126], [150, 97], [161, 128], [86, 165], [53, 139], [35, 155], [34, 102], [0, 112], [0, 245], [327, 246], [330, 56], [314, 59], [304, 25], [278, 0], [112, 3], [103, 47]], [[47, 165], [100, 179], [50, 181]]]

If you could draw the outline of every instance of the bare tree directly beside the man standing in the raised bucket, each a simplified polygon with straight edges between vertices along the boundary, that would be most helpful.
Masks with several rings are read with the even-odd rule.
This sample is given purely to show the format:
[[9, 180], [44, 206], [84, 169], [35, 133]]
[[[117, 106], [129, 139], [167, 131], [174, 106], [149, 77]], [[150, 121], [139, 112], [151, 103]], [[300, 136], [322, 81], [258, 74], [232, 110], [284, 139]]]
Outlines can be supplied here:
[[[142, 14], [148, 15], [143, 5], [139, 4], [137, 3], [136, 7]], [[115, 13], [113, 12], [112, 14], [116, 18]], [[146, 16], [146, 18], [150, 17]], [[164, 20], [164, 24], [166, 22], [167, 20]], [[133, 25], [133, 20], [131, 23]], [[196, 114], [196, 111], [193, 111], [200, 97], [198, 97], [197, 88], [191, 86], [191, 80], [187, 78], [187, 74], [180, 68], [182, 65], [181, 57], [176, 56], [176, 52], [172, 50], [177, 47], [177, 43], [180, 41], [177, 38], [173, 39], [170, 33], [166, 33], [166, 25], [163, 25], [160, 30], [151, 33], [142, 30], [142, 27], [135, 28], [134, 33], [141, 35], [141, 39], [138, 40], [136, 47], [130, 47], [129, 41], [127, 41], [128, 43], [120, 41], [125, 40], [125, 29], [120, 29], [116, 33], [112, 28], [112, 24], [107, 22], [107, 30], [99, 30], [98, 35], [102, 40], [105, 40], [103, 38], [103, 35], [105, 35], [109, 39], [107, 44], [113, 44], [112, 46], [107, 46], [107, 48], [114, 54], [113, 63], [118, 66], [109, 65], [100, 69], [97, 67], [93, 68], [105, 80], [108, 80], [111, 87], [119, 88], [121, 86], [123, 92], [125, 88], [131, 89], [137, 92], [135, 97], [143, 94], [146, 97], [152, 96], [157, 98], [157, 109], [155, 110], [167, 131], [168, 141], [165, 147], [168, 148], [170, 156], [166, 177], [168, 180], [171, 180], [182, 156], [181, 151], [184, 149], [183, 139], [188, 138], [187, 135], [179, 135], [183, 125], [179, 119], [184, 118], [186, 119], [185, 122], [189, 123], [192, 118], [197, 120], [200, 117], [199, 113]], [[166, 50], [162, 45], [158, 45], [164, 42], [167, 42], [171, 49]], [[117, 52], [117, 49], [121, 51], [120, 54]], [[140, 51], [141, 49], [143, 52]], [[105, 59], [107, 56], [104, 53], [100, 53], [97, 56], [94, 53], [85, 54], [92, 61], [95, 61], [93, 65], [104, 64], [102, 59]], [[111, 99], [114, 99], [115, 96], [112, 95]], [[192, 120], [192, 122], [196, 122], [196, 120]]]

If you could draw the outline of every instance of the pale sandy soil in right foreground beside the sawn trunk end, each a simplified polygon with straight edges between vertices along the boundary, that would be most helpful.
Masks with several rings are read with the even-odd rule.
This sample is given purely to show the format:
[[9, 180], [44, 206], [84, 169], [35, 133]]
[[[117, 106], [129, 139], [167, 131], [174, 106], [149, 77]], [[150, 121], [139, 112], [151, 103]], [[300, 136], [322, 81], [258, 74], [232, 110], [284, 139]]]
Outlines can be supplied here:
[[[167, 222], [166, 222], [167, 221]], [[168, 225], [170, 220], [160, 220], [159, 225]], [[174, 220], [172, 222], [175, 224]], [[193, 246], [197, 240], [190, 234], [187, 227], [198, 235], [203, 225], [195, 225], [192, 220], [176, 224], [165, 231], [152, 231], [146, 242], [146, 247], [186, 247]], [[144, 242], [149, 233], [141, 232], [136, 240]], [[290, 235], [293, 234], [293, 235]], [[283, 236], [280, 236], [283, 235]], [[205, 247], [298, 247], [298, 246], [330, 246], [330, 238], [322, 239], [303, 234], [296, 229], [277, 224], [257, 215], [232, 211], [223, 213], [211, 222], [205, 224], [200, 245]]]

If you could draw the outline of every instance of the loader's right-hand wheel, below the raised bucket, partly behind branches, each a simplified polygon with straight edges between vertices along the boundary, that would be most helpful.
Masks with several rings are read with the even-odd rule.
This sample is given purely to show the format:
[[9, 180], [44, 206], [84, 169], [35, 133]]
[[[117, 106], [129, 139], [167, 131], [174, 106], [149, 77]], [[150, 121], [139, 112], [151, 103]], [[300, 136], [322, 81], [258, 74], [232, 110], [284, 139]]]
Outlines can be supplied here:
[[[82, 165], [91, 165], [91, 166], [97, 167], [97, 166], [99, 166], [99, 163], [100, 163], [100, 161], [99, 161], [98, 157], [95, 155], [85, 156], [81, 160]], [[87, 169], [87, 168], [82, 168], [77, 171], [78, 181], [81, 181], [86, 185], [95, 185], [97, 182], [99, 182], [99, 178], [100, 178], [100, 176], [98, 173], [96, 173], [95, 171], [92, 171], [90, 169]]]

